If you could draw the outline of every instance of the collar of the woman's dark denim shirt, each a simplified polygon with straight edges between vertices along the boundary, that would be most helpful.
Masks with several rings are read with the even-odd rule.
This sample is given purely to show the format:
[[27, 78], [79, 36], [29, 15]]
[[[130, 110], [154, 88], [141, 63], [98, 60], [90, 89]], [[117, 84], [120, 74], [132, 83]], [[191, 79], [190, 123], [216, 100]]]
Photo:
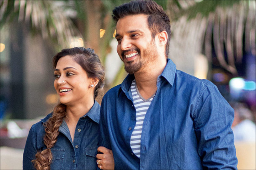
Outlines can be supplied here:
[[[53, 113], [53, 112], [52, 112]], [[48, 114], [45, 118], [41, 119], [41, 121], [43, 123], [46, 123], [46, 121], [52, 117], [52, 113]], [[95, 121], [96, 123], [100, 123], [100, 104], [98, 104], [97, 101], [94, 101], [94, 105], [92, 106], [92, 108], [90, 109], [90, 111], [88, 113], [86, 113], [84, 116], [82, 116], [81, 118], [84, 118], [88, 116], [89, 118], [91, 118], [93, 121]]]

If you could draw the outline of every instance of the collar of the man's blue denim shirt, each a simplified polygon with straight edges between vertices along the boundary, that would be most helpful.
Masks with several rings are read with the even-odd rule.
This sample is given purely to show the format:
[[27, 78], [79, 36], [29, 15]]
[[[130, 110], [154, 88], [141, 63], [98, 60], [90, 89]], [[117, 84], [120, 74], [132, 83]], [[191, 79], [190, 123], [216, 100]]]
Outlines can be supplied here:
[[[167, 58], [167, 64], [165, 66], [165, 69], [162, 72], [162, 74], [159, 75], [159, 77], [164, 77], [171, 85], [173, 85], [175, 74], [176, 74], [176, 65], [174, 64], [174, 62], [172, 62], [170, 58]], [[134, 79], [135, 79], [134, 74], [127, 75], [127, 77], [124, 79], [123, 83], [121, 84], [119, 93], [121, 89], [123, 90], [123, 92], [128, 92], [130, 89], [130, 85], [132, 84], [132, 81]]]

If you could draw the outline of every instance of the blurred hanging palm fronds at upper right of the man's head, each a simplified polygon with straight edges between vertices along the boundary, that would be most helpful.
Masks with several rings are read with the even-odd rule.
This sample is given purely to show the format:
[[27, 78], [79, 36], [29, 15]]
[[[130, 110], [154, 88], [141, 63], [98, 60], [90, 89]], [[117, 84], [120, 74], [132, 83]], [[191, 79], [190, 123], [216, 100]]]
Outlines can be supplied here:
[[255, 56], [255, 1], [172, 1], [167, 11], [173, 21], [171, 55], [203, 53], [212, 63], [214, 52], [233, 75], [243, 51]]

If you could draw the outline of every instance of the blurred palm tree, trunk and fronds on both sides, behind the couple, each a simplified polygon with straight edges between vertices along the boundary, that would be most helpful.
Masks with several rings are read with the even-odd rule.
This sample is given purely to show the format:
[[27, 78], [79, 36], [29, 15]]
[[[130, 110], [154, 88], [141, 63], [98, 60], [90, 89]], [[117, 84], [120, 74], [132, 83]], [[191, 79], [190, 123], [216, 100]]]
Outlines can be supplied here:
[[[59, 5], [56, 1], [1, 1], [1, 29], [11, 21], [26, 22], [33, 31], [40, 31], [43, 38], [57, 42], [60, 49], [72, 38], [80, 37], [105, 63], [114, 32], [111, 11], [124, 2], [127, 1], [60, 1]], [[219, 64], [232, 74], [237, 74], [235, 63], [242, 61], [243, 44], [255, 56], [255, 1], [156, 2], [163, 6], [172, 22], [170, 55], [182, 58], [188, 53], [204, 53], [212, 62], [215, 51]], [[76, 26], [72, 16], [63, 12], [70, 10], [76, 13], [73, 18]], [[98, 36], [101, 28], [106, 30], [103, 38]], [[125, 75], [123, 67], [119, 71], [121, 75], [117, 75], [112, 85], [120, 83]]]

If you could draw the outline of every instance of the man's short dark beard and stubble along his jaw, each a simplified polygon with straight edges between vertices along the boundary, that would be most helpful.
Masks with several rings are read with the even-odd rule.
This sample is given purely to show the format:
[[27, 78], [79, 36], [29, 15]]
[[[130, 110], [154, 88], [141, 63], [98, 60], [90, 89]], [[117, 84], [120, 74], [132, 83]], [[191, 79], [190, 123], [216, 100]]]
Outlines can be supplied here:
[[[139, 49], [136, 49], [134, 51], [138, 51], [139, 57], [141, 57], [141, 53]], [[141, 69], [145, 68], [146, 64], [149, 62], [153, 62], [156, 58], [157, 51], [156, 51], [156, 46], [153, 43], [149, 43], [148, 48], [144, 50], [144, 61], [139, 60], [138, 62], [134, 61], [128, 61], [127, 64], [124, 64], [124, 69], [126, 70], [127, 73], [129, 74], [134, 74]]]

